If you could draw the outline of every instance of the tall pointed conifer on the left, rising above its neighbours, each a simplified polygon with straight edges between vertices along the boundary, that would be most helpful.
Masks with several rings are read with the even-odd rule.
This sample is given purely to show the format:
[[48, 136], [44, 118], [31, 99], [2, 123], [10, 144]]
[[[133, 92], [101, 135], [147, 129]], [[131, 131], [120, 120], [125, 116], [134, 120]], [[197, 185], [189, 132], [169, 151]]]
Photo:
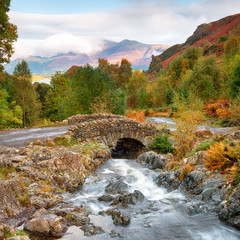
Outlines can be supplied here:
[[26, 127], [37, 121], [41, 109], [41, 103], [37, 101], [37, 95], [31, 82], [31, 71], [25, 60], [19, 62], [13, 72], [12, 96], [23, 111], [23, 126]]

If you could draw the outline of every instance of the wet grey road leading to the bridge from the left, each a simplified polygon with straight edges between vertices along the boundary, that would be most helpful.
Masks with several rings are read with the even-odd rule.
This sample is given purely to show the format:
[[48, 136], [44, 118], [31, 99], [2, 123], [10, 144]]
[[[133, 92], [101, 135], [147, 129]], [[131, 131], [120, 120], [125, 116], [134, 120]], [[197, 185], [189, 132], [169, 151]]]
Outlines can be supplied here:
[[21, 147], [35, 139], [45, 140], [68, 131], [69, 126], [18, 129], [0, 132], [0, 146]]

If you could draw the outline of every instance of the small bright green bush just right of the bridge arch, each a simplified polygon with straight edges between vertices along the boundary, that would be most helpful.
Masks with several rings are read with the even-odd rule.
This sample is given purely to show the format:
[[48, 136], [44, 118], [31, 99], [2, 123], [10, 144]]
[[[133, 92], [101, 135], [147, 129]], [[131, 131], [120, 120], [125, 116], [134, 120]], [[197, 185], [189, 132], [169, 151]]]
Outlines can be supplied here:
[[157, 150], [158, 153], [174, 153], [174, 148], [168, 134], [156, 136], [151, 144], [151, 148]]

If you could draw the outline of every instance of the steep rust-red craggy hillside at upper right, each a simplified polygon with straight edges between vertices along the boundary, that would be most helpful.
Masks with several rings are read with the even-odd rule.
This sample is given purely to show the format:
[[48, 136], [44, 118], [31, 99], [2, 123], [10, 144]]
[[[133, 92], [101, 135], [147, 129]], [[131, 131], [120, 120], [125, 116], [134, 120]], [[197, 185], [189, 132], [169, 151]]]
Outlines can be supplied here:
[[224, 40], [238, 24], [240, 24], [240, 14], [228, 16], [208, 24], [201, 24], [185, 43], [176, 44], [162, 54], [153, 57], [147, 71], [149, 77], [154, 77], [162, 67], [167, 66], [188, 46], [201, 47], [204, 55], [215, 54], [220, 57], [223, 53]]

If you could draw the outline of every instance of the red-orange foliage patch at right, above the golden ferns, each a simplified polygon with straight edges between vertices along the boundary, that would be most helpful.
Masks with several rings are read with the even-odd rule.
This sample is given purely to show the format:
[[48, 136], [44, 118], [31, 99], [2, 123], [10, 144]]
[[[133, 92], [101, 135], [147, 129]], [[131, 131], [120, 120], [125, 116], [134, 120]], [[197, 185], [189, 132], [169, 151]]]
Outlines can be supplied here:
[[203, 109], [208, 116], [222, 119], [230, 115], [230, 104], [230, 100], [227, 99], [210, 100], [204, 105]]

